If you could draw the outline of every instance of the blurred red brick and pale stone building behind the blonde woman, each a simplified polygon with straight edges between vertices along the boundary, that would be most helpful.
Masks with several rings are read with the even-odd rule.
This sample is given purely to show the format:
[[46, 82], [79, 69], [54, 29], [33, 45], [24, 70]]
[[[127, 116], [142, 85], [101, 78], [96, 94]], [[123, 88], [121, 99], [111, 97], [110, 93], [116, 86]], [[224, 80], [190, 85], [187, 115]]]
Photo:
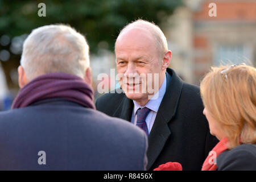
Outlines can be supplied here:
[[[170, 17], [165, 32], [173, 52], [171, 67], [199, 85], [210, 66], [256, 65], [256, 1], [188, 0]], [[216, 16], [210, 16], [216, 5]], [[164, 25], [163, 25], [164, 26]]]

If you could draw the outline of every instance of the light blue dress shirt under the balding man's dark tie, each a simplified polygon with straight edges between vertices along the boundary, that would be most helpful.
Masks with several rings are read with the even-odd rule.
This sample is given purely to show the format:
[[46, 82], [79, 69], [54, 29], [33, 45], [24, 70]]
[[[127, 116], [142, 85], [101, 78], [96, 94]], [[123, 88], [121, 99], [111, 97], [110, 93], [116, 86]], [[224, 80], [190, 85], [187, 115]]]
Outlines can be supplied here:
[[156, 114], [158, 113], [158, 108], [163, 100], [163, 96], [166, 93], [166, 76], [164, 77], [163, 84], [160, 86], [160, 89], [158, 90], [158, 93], [155, 93], [152, 98], [147, 102], [145, 106], [139, 105], [136, 101], [133, 101], [134, 108], [133, 108], [133, 114], [131, 115], [131, 123], [134, 123], [134, 125], [137, 124], [137, 110], [139, 108], [147, 107], [148, 109], [151, 109], [150, 113], [147, 115], [146, 123], [147, 123], [147, 129], [148, 134], [150, 134], [150, 131], [152, 129], [152, 126], [154, 125]]

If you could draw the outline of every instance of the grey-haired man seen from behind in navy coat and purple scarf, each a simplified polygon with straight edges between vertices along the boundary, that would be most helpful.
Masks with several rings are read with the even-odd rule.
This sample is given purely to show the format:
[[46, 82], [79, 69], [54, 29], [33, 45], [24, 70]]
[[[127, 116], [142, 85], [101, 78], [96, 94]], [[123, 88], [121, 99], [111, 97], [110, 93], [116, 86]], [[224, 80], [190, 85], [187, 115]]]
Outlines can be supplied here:
[[76, 30], [33, 30], [18, 73], [13, 108], [0, 112], [0, 170], [146, 168], [146, 134], [95, 110], [89, 47]]

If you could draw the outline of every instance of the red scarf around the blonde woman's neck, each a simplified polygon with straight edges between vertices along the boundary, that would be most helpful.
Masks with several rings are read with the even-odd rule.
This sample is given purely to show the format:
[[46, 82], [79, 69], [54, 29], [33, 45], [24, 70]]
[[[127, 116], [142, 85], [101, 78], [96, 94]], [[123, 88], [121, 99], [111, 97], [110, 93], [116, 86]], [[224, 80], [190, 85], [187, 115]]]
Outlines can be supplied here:
[[218, 142], [212, 149], [212, 151], [209, 152], [209, 155], [205, 159], [201, 171], [215, 171], [217, 169], [217, 156], [220, 155], [221, 152], [228, 149], [228, 147], [226, 147], [226, 142], [228, 142], [228, 139], [226, 137], [222, 138], [220, 142]]

